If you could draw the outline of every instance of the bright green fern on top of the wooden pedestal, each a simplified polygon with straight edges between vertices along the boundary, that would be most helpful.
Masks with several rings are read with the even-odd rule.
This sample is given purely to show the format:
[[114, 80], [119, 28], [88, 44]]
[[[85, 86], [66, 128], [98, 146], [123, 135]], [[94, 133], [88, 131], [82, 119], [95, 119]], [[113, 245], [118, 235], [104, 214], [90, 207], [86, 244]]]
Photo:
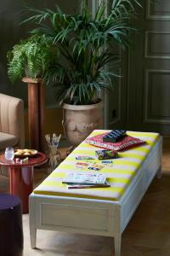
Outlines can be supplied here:
[[43, 78], [50, 65], [54, 65], [58, 51], [40, 35], [34, 35], [8, 51], [8, 78], [14, 82], [27, 75]]

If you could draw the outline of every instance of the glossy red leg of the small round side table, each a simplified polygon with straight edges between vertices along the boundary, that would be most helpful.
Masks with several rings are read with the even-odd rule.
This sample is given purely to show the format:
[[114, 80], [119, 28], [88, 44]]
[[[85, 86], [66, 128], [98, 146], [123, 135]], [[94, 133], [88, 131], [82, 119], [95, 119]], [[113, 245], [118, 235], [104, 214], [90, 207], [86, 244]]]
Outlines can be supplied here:
[[10, 194], [20, 197], [22, 212], [28, 212], [28, 197], [33, 190], [33, 166], [8, 167]]

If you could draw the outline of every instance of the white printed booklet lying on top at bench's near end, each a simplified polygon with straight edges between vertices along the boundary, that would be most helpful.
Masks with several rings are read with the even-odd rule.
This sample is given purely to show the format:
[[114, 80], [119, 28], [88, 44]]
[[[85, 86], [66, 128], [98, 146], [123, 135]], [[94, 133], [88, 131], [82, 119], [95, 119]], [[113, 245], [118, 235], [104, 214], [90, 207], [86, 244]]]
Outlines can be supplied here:
[[67, 173], [62, 183], [66, 184], [105, 184], [106, 174], [105, 173], [92, 173], [92, 172], [70, 172]]

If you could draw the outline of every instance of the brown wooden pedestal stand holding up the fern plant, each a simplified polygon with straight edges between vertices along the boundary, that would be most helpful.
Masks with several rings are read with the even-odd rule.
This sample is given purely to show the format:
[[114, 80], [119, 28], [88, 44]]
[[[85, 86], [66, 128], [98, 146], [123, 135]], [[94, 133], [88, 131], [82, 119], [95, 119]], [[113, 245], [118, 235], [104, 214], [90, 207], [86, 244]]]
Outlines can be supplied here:
[[22, 79], [28, 84], [28, 125], [30, 148], [44, 152], [44, 88], [42, 79]]

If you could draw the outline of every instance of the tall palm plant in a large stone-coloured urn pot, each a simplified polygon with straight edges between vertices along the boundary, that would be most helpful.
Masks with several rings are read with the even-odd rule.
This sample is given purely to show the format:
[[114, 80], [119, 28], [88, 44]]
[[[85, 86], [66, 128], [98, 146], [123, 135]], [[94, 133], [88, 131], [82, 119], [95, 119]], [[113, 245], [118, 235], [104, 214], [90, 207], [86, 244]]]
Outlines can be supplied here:
[[65, 134], [77, 146], [94, 129], [102, 126], [103, 89], [111, 89], [116, 77], [107, 65], [117, 62], [112, 46], [125, 49], [129, 32], [134, 29], [130, 20], [136, 16], [139, 0], [113, 0], [110, 14], [105, 17], [107, 1], [102, 1], [95, 15], [82, 1], [82, 12], [65, 15], [59, 7], [30, 9], [27, 21], [36, 25], [31, 32], [56, 45], [61, 58], [48, 68], [44, 78], [57, 87], [57, 99], [63, 103]]

